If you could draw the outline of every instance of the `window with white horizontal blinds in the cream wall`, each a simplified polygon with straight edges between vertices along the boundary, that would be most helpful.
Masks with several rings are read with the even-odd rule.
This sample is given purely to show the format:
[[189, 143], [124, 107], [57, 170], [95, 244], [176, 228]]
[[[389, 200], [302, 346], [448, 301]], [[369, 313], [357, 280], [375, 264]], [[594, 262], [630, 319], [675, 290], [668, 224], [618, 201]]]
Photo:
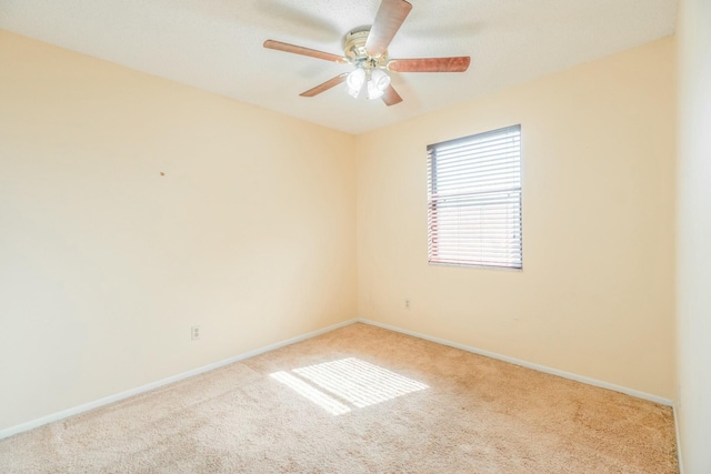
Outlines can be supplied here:
[[430, 263], [520, 269], [521, 125], [427, 152]]

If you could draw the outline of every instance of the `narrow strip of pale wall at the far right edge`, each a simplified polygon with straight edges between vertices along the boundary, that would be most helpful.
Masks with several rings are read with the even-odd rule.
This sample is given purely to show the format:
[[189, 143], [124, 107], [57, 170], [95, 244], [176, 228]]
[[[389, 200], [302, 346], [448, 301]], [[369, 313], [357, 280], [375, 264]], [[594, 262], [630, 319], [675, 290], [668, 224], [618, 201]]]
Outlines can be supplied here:
[[711, 2], [679, 14], [678, 320], [680, 445], [688, 474], [711, 473]]

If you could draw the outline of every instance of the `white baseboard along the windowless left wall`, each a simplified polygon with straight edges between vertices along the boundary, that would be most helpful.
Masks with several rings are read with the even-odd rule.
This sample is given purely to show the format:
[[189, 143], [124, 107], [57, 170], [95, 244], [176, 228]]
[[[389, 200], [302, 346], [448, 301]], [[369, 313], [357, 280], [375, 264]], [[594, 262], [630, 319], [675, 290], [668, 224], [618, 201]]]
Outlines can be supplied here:
[[246, 352], [243, 354], [239, 354], [239, 355], [236, 355], [233, 357], [226, 359], [223, 361], [214, 362], [212, 364], [203, 365], [202, 367], [193, 369], [193, 370], [188, 371], [188, 372], [183, 372], [183, 373], [180, 373], [180, 374], [177, 374], [177, 375], [172, 375], [172, 376], [169, 376], [167, 379], [159, 380], [158, 382], [152, 382], [152, 383], [149, 383], [149, 384], [146, 384], [146, 385], [141, 385], [141, 386], [138, 386], [136, 389], [127, 390], [126, 392], [117, 393], [114, 395], [104, 396], [103, 399], [99, 399], [99, 400], [96, 400], [93, 402], [89, 402], [89, 403], [84, 403], [84, 404], [79, 405], [79, 406], [74, 406], [72, 409], [62, 410], [61, 412], [52, 413], [51, 415], [42, 416], [40, 418], [32, 420], [32, 421], [27, 422], [27, 423], [21, 423], [21, 424], [16, 425], [16, 426], [10, 426], [8, 428], [0, 430], [0, 440], [2, 440], [4, 437], [8, 437], [8, 436], [12, 436], [13, 434], [22, 433], [24, 431], [32, 430], [32, 428], [46, 425], [48, 423], [56, 422], [58, 420], [63, 420], [63, 418], [67, 418], [69, 416], [78, 415], [79, 413], [88, 412], [89, 410], [98, 409], [100, 406], [108, 405], [110, 403], [114, 403], [114, 402], [118, 402], [120, 400], [128, 399], [129, 396], [138, 395], [138, 394], [141, 394], [143, 392], [148, 392], [148, 391], [158, 389], [160, 386], [168, 385], [170, 383], [179, 382], [179, 381], [181, 381], [183, 379], [188, 379], [188, 377], [191, 377], [191, 376], [194, 376], [194, 375], [199, 375], [201, 373], [209, 372], [209, 371], [212, 371], [214, 369], [219, 369], [219, 367], [221, 367], [223, 365], [229, 365], [229, 364], [232, 364], [234, 362], [242, 361], [244, 359], [253, 357], [254, 355], [263, 354], [264, 352], [273, 351], [276, 349], [283, 347], [286, 345], [290, 345], [290, 344], [294, 344], [297, 342], [306, 341], [307, 339], [314, 337], [317, 335], [320, 335], [320, 334], [337, 330], [339, 327], [348, 326], [348, 325], [353, 324], [356, 322], [358, 322], [358, 320], [350, 320], [350, 321], [344, 321], [342, 323], [333, 324], [333, 325], [330, 325], [328, 327], [323, 327], [323, 329], [320, 329], [320, 330], [317, 330], [317, 331], [312, 331], [312, 332], [307, 333], [307, 334], [301, 334], [301, 335], [298, 335], [296, 337], [288, 339], [286, 341], [281, 341], [281, 342], [278, 342], [278, 343], [274, 343], [274, 344], [271, 344], [271, 345], [267, 345], [264, 347], [256, 349], [254, 351]]

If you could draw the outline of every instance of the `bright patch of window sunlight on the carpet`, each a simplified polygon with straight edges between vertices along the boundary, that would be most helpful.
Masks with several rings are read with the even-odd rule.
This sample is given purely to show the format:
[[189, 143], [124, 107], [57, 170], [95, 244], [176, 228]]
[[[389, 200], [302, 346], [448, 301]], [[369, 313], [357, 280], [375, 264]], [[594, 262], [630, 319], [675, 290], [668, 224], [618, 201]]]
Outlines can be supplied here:
[[292, 372], [298, 376], [288, 372], [277, 372], [271, 376], [333, 415], [348, 413], [351, 409], [323, 391], [362, 409], [429, 387], [356, 357], [309, 365]]

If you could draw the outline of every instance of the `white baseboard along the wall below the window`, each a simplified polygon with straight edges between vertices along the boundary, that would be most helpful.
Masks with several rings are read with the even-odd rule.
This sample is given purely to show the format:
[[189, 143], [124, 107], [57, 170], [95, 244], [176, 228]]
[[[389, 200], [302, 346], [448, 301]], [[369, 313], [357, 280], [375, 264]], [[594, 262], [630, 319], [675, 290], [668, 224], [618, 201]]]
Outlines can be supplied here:
[[411, 335], [411, 336], [414, 336], [414, 337], [423, 339], [425, 341], [435, 342], [438, 344], [449, 345], [450, 347], [461, 349], [462, 351], [472, 352], [474, 354], [485, 355], [487, 357], [498, 359], [499, 361], [509, 362], [509, 363], [515, 364], [515, 365], [521, 365], [522, 367], [527, 367], [527, 369], [533, 369], [535, 371], [544, 372], [547, 374], [558, 375], [558, 376], [563, 377], [563, 379], [573, 380], [575, 382], [582, 382], [582, 383], [585, 383], [588, 385], [599, 386], [601, 389], [613, 390], [615, 392], [621, 392], [621, 393], [624, 393], [627, 395], [631, 395], [631, 396], [634, 396], [634, 397], [638, 397], [638, 399], [648, 400], [650, 402], [659, 403], [661, 405], [673, 406], [673, 402], [671, 400], [669, 400], [669, 399], [664, 399], [664, 397], [661, 397], [661, 396], [657, 396], [657, 395], [652, 395], [652, 394], [649, 394], [649, 393], [640, 392], [640, 391], [633, 390], [633, 389], [628, 389], [625, 386], [615, 385], [615, 384], [603, 382], [603, 381], [599, 381], [599, 380], [595, 380], [595, 379], [590, 379], [590, 377], [587, 377], [587, 376], [583, 376], [583, 375], [573, 374], [571, 372], [560, 371], [558, 369], [547, 367], [545, 365], [539, 365], [539, 364], [534, 364], [534, 363], [531, 363], [531, 362], [522, 361], [520, 359], [509, 357], [508, 355], [497, 354], [495, 352], [484, 351], [482, 349], [472, 347], [470, 345], [459, 344], [459, 343], [447, 341], [447, 340], [439, 339], [439, 337], [432, 337], [432, 336], [427, 335], [427, 334], [422, 334], [422, 333], [418, 333], [418, 332], [409, 331], [409, 330], [403, 330], [401, 327], [391, 326], [390, 324], [383, 324], [383, 323], [379, 323], [377, 321], [365, 320], [365, 319], [362, 319], [362, 317], [359, 317], [357, 321], [360, 322], [360, 323], [365, 323], [365, 324], [370, 324], [370, 325], [373, 325], [373, 326], [382, 327], [382, 329], [385, 329], [385, 330], [390, 330], [390, 331], [399, 332], [399, 333], [402, 333], [402, 334], [408, 334], [408, 335]]

